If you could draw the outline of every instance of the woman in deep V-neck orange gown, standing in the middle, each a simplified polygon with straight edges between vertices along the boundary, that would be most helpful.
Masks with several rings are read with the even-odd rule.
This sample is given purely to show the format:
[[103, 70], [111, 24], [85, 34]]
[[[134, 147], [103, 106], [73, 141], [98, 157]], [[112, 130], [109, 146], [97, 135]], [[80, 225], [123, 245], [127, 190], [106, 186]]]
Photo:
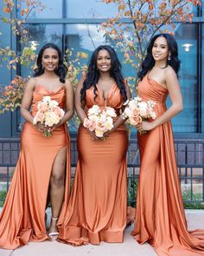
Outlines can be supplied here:
[[[79, 160], [67, 215], [59, 239], [80, 246], [100, 241], [123, 242], [127, 208], [126, 152], [128, 135], [121, 116], [130, 89], [121, 75], [121, 65], [112, 47], [99, 46], [92, 54], [88, 72], [75, 92], [80, 117]], [[83, 127], [89, 108], [112, 107], [118, 117], [114, 127], [100, 140]]]

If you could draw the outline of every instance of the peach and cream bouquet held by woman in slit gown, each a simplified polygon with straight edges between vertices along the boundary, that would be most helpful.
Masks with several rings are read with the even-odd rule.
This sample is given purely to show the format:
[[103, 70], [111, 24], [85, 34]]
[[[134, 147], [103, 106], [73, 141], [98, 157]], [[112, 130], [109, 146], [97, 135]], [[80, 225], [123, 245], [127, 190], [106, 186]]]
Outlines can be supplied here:
[[[44, 96], [41, 102], [37, 105], [38, 111], [34, 117], [33, 124], [35, 125], [38, 121], [41, 124], [51, 128], [54, 124], [61, 121], [65, 112], [62, 108], [58, 107], [58, 102], [51, 100], [50, 96]], [[48, 130], [44, 132], [45, 137], [52, 136], [52, 133]]]

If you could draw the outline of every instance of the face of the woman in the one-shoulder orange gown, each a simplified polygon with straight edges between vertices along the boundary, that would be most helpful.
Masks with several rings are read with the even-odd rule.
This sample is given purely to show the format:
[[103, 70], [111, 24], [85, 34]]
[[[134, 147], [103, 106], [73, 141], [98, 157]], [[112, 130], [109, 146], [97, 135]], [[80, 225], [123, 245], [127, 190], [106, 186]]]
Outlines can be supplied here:
[[167, 39], [163, 36], [157, 37], [152, 47], [152, 56], [154, 60], [156, 62], [166, 62], [169, 55]]

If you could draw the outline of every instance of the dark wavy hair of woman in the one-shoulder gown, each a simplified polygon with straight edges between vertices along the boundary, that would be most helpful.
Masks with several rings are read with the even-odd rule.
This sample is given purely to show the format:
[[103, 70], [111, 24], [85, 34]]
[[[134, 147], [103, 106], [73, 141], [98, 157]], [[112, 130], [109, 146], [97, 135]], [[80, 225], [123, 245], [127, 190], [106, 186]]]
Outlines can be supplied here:
[[156, 41], [156, 38], [163, 36], [167, 40], [167, 44], [170, 51], [170, 60], [167, 59], [166, 67], [169, 65], [172, 69], [175, 70], [176, 75], [178, 76], [178, 71], [180, 69], [180, 60], [178, 59], [178, 45], [175, 41], [175, 37], [171, 36], [170, 34], [157, 34], [156, 36], [153, 36], [150, 44], [147, 49], [147, 56], [143, 60], [142, 69], [138, 73], [138, 77], [142, 80], [143, 76], [147, 74], [147, 72], [152, 69], [155, 65], [155, 60], [152, 56], [152, 48]]

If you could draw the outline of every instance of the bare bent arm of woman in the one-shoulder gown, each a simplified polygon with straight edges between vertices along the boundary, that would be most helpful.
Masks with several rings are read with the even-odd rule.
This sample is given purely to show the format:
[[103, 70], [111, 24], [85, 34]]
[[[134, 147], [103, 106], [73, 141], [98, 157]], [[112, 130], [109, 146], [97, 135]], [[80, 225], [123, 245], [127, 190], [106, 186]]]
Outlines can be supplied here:
[[157, 126], [163, 124], [166, 121], [169, 121], [172, 117], [177, 115], [179, 112], [182, 111], [182, 93], [179, 86], [179, 82], [177, 76], [175, 74], [174, 69], [169, 67], [165, 70], [165, 81], [167, 84], [167, 88], [169, 90], [169, 96], [171, 99], [171, 106], [168, 108], [163, 115], [160, 115], [156, 118], [155, 121], [143, 121], [141, 124], [137, 125], [138, 130], [151, 130], [156, 128]]

